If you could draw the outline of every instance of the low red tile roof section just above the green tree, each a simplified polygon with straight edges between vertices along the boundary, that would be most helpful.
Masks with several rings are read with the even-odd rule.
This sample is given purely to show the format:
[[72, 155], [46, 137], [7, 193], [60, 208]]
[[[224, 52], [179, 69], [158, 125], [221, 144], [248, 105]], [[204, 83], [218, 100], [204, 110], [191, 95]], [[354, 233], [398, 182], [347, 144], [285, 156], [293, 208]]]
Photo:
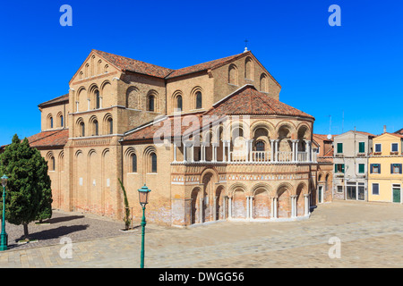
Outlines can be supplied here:
[[28, 138], [30, 147], [63, 147], [69, 139], [69, 130], [42, 131]]

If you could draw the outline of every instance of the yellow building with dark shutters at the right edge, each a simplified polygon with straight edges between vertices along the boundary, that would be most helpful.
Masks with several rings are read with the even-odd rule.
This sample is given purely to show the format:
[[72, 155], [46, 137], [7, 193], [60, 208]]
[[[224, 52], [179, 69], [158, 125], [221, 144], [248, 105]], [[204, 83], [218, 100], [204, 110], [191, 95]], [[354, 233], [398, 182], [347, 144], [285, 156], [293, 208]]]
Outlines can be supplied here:
[[402, 203], [403, 136], [383, 133], [373, 139], [369, 157], [368, 200]]

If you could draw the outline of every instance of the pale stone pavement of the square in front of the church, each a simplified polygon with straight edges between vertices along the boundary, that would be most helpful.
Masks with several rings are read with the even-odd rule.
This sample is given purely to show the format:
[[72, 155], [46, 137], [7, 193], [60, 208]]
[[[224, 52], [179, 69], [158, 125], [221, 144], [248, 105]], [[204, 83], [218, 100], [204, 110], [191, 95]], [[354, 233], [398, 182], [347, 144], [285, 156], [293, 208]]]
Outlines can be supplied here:
[[[402, 214], [402, 205], [343, 201], [318, 206], [309, 220], [300, 222], [223, 222], [188, 229], [148, 224], [145, 265], [150, 268], [403, 267]], [[80, 219], [86, 219], [89, 225], [98, 224], [99, 231], [104, 229], [107, 233], [97, 239], [80, 240], [77, 233], [85, 230], [64, 231], [64, 236], [56, 240], [72, 238], [71, 252], [64, 251], [68, 245], [59, 242], [47, 246], [37, 242], [40, 247], [18, 246], [0, 253], [0, 267], [140, 265], [140, 228], [129, 233], [116, 232], [113, 228], [122, 228], [122, 223], [84, 217], [64, 223], [80, 223]], [[107, 226], [101, 227], [102, 223]], [[84, 237], [81, 233], [81, 239]], [[329, 257], [332, 237], [340, 241], [340, 258]], [[71, 258], [65, 256], [69, 253]]]

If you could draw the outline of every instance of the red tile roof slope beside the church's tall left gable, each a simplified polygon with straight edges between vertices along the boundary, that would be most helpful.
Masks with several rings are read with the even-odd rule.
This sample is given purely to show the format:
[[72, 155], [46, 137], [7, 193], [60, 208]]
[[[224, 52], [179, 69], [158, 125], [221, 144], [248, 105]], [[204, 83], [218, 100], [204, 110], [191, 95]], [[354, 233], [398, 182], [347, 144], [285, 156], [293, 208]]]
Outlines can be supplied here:
[[157, 78], [165, 78], [165, 77], [167, 77], [167, 75], [169, 73], [174, 71], [171, 69], [160, 67], [155, 64], [144, 63], [141, 61], [133, 60], [128, 57], [121, 56], [121, 55], [109, 54], [109, 53], [102, 52], [99, 50], [92, 50], [92, 51], [94, 53], [100, 55], [101, 57], [103, 57], [109, 63], [114, 64], [118, 69], [120, 69], [122, 71], [139, 72], [139, 73], [147, 74], [147, 75], [157, 77]]

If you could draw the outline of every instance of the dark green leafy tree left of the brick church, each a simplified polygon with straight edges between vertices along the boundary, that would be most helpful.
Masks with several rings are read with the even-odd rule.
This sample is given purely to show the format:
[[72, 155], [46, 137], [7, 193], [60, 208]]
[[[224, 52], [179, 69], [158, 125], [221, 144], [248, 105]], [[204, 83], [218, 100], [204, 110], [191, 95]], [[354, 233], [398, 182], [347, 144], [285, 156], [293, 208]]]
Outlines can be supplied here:
[[[50, 178], [47, 162], [37, 149], [30, 147], [28, 139], [14, 135], [12, 144], [0, 155], [0, 173], [9, 177], [5, 198], [5, 220], [23, 225], [24, 239], [28, 240], [28, 224], [49, 217], [51, 203]], [[51, 194], [51, 193], [50, 193]], [[2, 202], [3, 203], [3, 202]], [[2, 205], [0, 205], [1, 209]]]

